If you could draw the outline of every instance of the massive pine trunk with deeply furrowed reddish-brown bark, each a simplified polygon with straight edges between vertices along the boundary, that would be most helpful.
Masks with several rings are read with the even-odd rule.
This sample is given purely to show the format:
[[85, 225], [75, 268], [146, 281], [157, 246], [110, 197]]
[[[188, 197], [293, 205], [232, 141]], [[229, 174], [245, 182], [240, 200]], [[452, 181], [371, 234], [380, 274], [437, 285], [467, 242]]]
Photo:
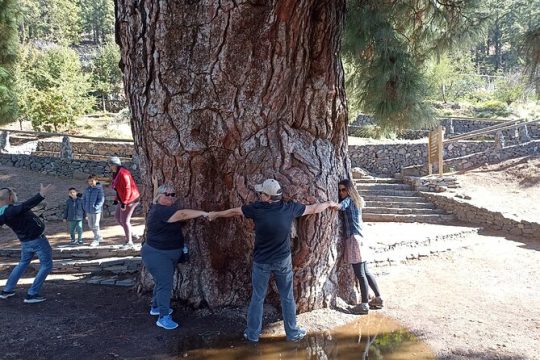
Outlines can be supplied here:
[[[337, 200], [350, 167], [338, 56], [345, 0], [116, 5], [146, 202], [151, 175], [174, 182], [185, 207], [208, 211], [256, 200], [253, 185], [265, 178], [300, 202]], [[300, 311], [355, 296], [336, 218], [327, 211], [297, 224]], [[252, 223], [198, 219], [184, 230], [191, 260], [178, 267], [174, 295], [195, 306], [247, 303]], [[150, 285], [144, 271], [141, 282]]]

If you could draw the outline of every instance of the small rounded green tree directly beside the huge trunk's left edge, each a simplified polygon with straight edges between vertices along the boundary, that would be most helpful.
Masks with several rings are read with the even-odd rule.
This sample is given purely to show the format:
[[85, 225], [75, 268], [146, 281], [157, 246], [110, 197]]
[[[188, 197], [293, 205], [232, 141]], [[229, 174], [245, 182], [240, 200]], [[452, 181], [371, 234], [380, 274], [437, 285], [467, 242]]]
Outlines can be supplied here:
[[[92, 63], [92, 87], [104, 100], [122, 90], [122, 72], [118, 66], [120, 49], [115, 43], [100, 47]], [[104, 111], [106, 111], [105, 106]]]

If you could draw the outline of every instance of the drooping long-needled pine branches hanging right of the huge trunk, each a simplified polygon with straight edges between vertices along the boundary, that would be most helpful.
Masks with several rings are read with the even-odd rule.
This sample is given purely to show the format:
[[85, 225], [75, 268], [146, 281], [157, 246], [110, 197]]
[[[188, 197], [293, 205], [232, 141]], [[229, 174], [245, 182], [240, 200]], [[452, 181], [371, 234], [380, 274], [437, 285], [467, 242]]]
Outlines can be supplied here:
[[469, 43], [487, 18], [477, 1], [349, 0], [343, 36], [351, 116], [361, 109], [383, 129], [430, 127], [423, 65]]

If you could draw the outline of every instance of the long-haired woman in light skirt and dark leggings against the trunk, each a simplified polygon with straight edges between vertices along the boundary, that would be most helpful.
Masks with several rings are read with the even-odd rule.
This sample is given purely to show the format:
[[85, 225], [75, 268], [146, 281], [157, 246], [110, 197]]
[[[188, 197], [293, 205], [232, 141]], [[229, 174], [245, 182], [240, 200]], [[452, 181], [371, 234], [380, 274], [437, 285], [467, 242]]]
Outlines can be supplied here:
[[[369, 309], [380, 309], [383, 300], [375, 277], [369, 272], [367, 261], [370, 258], [370, 250], [362, 236], [362, 208], [364, 199], [358, 194], [351, 180], [341, 180], [338, 184], [339, 205], [336, 207], [341, 212], [343, 234], [345, 237], [345, 261], [352, 265], [354, 274], [360, 282], [361, 304], [356, 311], [367, 314]], [[375, 297], [368, 303], [368, 285], [375, 293]]]

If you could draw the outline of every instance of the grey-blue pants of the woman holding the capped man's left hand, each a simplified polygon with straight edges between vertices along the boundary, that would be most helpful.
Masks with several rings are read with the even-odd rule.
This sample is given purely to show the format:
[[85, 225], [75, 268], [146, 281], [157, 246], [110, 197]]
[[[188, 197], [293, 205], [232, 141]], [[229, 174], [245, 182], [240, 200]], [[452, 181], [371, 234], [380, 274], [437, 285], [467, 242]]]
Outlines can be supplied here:
[[144, 266], [154, 279], [152, 307], [159, 308], [160, 317], [169, 315], [174, 271], [181, 254], [182, 249], [159, 250], [147, 244], [144, 244], [141, 249]]

